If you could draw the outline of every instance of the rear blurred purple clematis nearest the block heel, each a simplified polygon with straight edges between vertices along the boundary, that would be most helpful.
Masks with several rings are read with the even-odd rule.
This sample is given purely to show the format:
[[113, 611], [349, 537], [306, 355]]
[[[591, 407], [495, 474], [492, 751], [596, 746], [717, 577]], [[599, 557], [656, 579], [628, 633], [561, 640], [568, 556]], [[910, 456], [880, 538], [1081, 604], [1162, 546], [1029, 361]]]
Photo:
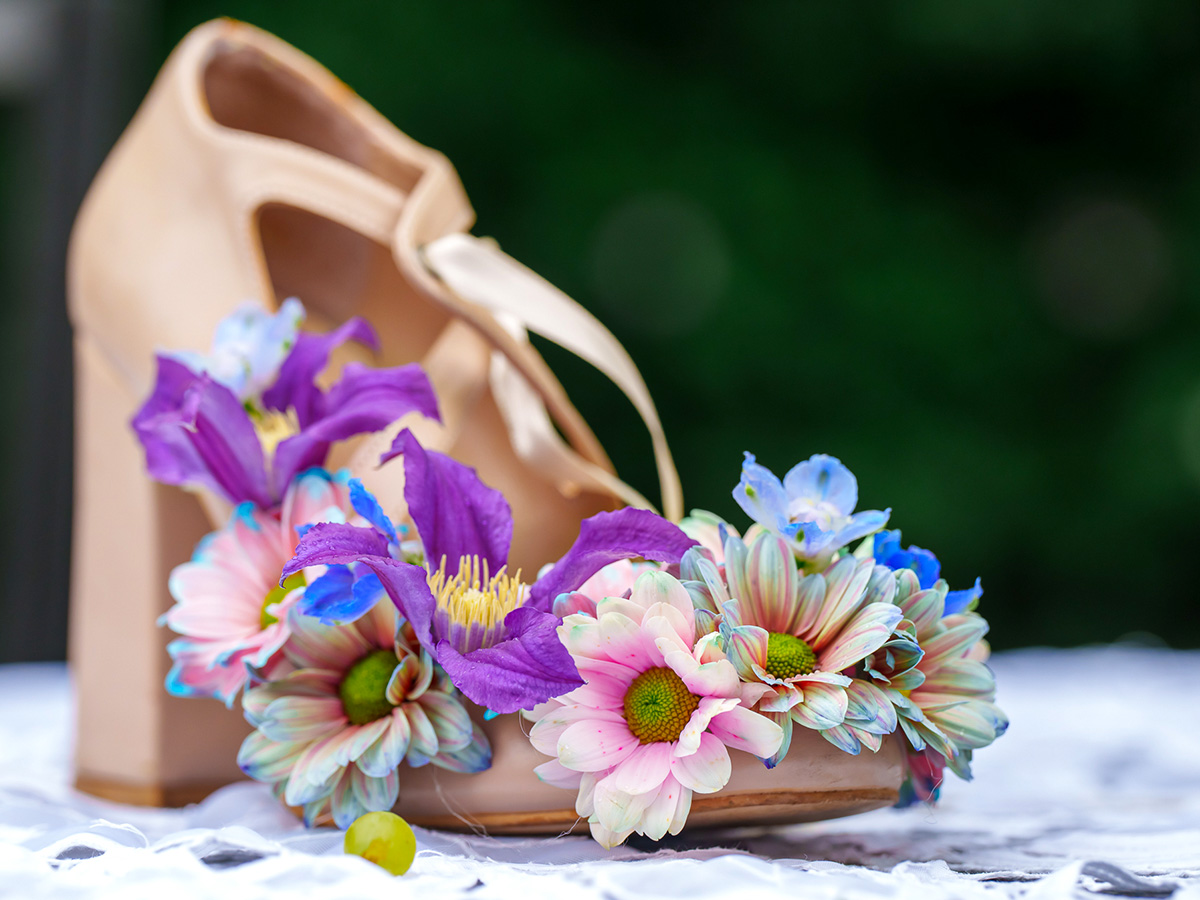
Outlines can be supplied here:
[[274, 383], [260, 397], [245, 398], [208, 371], [158, 355], [154, 392], [132, 422], [150, 476], [271, 509], [298, 474], [325, 463], [334, 442], [379, 431], [412, 412], [438, 419], [433, 388], [415, 364], [352, 362], [329, 390], [319, 388], [330, 353], [348, 341], [379, 346], [359, 318], [325, 335], [301, 332]]

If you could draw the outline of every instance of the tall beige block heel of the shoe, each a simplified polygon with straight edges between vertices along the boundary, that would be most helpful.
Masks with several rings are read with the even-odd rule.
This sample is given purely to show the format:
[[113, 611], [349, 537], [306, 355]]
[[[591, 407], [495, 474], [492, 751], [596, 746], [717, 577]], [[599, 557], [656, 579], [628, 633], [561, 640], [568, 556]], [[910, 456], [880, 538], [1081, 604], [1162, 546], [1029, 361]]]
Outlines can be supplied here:
[[194, 496], [145, 475], [136, 400], [100, 348], [76, 340], [76, 505], [70, 658], [76, 786], [142, 805], [181, 805], [241, 778], [238, 709], [169, 696], [170, 570], [211, 526]]

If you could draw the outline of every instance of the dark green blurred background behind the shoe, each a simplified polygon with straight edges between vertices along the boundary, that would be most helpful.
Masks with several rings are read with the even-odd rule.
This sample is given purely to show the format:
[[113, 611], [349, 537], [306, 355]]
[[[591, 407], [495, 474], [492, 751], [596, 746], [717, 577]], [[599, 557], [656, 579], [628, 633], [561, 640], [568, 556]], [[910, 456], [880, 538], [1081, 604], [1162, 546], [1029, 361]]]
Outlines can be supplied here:
[[[1200, 644], [1195, 5], [121, 8], [102, 32], [104, 115], [88, 112], [89, 70], [68, 91], [91, 148], [62, 142], [78, 190], [192, 25], [258, 24], [444, 151], [476, 233], [608, 324], [659, 403], [689, 506], [743, 523], [730, 493], [743, 450], [780, 475], [829, 452], [858, 475], [860, 506], [892, 506], [952, 587], [983, 576], [997, 648]], [[10, 101], [0, 119], [7, 253], [58, 266], [58, 286], [61, 259], [20, 250], [30, 172], [61, 180], [53, 154], [26, 149], [28, 108]], [[70, 404], [36, 384], [44, 400], [23, 400], [68, 365], [61, 288], [23, 294], [28, 269], [5, 271], [5, 545], [29, 572], [7, 580], [5, 614], [37, 637], [10, 628], [8, 658], [61, 653], [65, 596], [66, 475], [46, 448]], [[35, 328], [52, 336], [38, 344]], [[30, 362], [40, 346], [58, 350]], [[618, 469], [653, 491], [632, 410], [545, 353]], [[26, 434], [31, 414], [58, 416], [49, 437]]]

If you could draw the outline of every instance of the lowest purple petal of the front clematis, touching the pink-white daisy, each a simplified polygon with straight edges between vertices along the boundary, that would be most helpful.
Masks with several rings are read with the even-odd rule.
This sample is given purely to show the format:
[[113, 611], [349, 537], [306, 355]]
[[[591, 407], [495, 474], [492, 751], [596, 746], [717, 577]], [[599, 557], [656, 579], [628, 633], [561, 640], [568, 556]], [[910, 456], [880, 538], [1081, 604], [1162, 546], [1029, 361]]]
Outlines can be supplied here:
[[469, 700], [497, 713], [532, 709], [583, 684], [558, 638], [558, 618], [522, 607], [504, 618], [509, 636], [468, 653], [438, 644], [438, 662]]

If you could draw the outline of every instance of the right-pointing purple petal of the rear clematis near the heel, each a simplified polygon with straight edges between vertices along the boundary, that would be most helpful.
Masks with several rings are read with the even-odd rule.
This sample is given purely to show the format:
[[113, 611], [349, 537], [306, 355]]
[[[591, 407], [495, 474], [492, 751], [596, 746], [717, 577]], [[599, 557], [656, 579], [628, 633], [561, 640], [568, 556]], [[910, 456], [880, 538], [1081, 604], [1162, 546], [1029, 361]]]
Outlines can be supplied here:
[[323, 466], [335, 440], [382, 431], [409, 413], [439, 420], [433, 385], [420, 366], [368, 368], [350, 362], [330, 389], [320, 414], [307, 424], [301, 419], [300, 433], [276, 449], [271, 474], [277, 490], [286, 490], [305, 469]]

